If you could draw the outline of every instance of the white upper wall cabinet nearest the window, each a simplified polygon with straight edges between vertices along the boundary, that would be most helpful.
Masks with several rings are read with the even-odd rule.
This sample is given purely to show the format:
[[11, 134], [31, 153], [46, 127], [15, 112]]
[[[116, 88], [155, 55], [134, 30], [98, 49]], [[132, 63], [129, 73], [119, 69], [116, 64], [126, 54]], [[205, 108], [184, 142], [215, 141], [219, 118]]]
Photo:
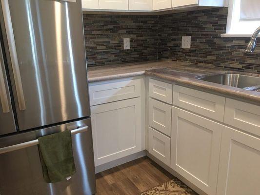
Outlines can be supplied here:
[[172, 6], [175, 9], [191, 6], [212, 6], [222, 7], [226, 0], [172, 0]]

